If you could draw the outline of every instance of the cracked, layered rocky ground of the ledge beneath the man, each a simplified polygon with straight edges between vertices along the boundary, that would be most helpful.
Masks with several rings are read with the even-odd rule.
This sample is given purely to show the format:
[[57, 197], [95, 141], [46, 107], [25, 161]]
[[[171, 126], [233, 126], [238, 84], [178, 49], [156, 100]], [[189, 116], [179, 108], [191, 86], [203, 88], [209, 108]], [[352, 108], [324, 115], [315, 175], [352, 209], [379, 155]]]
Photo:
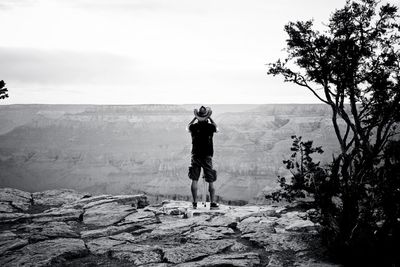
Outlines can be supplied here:
[[2, 188], [0, 266], [336, 266], [314, 216], [293, 205], [210, 211], [149, 205], [145, 195]]

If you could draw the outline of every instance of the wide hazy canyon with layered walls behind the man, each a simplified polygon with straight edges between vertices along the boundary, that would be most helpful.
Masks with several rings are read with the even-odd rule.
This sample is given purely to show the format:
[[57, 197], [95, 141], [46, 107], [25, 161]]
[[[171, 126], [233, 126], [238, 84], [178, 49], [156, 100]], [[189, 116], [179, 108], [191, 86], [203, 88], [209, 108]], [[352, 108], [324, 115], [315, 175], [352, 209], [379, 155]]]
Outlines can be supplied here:
[[[145, 193], [189, 200], [191, 137], [199, 105], [2, 105], [0, 187], [72, 188], [93, 194]], [[328, 106], [212, 105], [219, 127], [213, 158], [218, 201], [259, 203], [288, 175], [291, 136], [338, 149]]]

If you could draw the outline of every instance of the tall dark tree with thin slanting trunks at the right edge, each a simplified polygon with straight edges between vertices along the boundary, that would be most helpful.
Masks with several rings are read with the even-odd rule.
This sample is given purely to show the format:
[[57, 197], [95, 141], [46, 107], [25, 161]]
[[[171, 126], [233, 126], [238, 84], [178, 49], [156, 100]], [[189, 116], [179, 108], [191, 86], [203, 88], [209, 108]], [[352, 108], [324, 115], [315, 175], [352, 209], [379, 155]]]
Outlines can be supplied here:
[[[283, 76], [331, 107], [341, 152], [333, 158], [329, 181], [321, 183], [320, 190], [329, 192], [320, 206], [327, 240], [345, 256], [373, 250], [377, 233], [384, 234], [379, 220], [387, 218], [377, 195], [387, 183], [397, 184], [396, 175], [386, 177], [385, 186], [378, 175], [400, 119], [397, 11], [376, 0], [347, 1], [324, 32], [315, 30], [313, 21], [289, 22], [287, 58], [269, 65], [269, 74]], [[393, 227], [398, 223], [390, 231]], [[357, 246], [364, 250], [356, 251]]]

